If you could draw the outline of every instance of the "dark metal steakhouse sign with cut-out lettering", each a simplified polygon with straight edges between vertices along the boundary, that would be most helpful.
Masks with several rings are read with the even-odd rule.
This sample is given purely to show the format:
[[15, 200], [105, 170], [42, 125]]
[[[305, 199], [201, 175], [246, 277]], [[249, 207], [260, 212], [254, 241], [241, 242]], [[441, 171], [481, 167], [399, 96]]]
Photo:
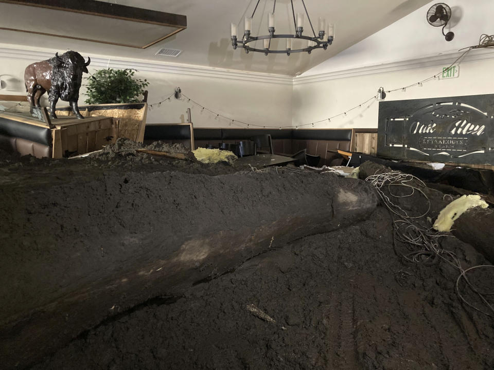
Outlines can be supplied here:
[[494, 164], [494, 94], [381, 101], [378, 155]]

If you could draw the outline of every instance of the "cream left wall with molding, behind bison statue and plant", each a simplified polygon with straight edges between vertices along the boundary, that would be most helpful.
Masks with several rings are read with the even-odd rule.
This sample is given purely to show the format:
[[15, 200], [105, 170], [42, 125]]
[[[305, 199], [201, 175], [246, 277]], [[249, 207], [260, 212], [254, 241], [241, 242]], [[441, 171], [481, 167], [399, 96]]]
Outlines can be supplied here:
[[[56, 51], [56, 50], [55, 50]], [[0, 94], [24, 95], [24, 69], [30, 63], [50, 58], [54, 50], [31, 49], [23, 46], [0, 44]], [[62, 53], [64, 50], [60, 50]], [[83, 51], [80, 53], [86, 57]], [[239, 73], [227, 70], [211, 70], [198, 67], [160, 65], [147, 61], [126, 61], [103, 55], [91, 55], [90, 72], [105, 68], [135, 67], [137, 78], [147, 79], [148, 102], [165, 99], [178, 86], [182, 93], [220, 115], [266, 127], [290, 126], [292, 121], [292, 79], [261, 73]], [[85, 75], [89, 76], [89, 75]], [[84, 80], [79, 104], [84, 104]], [[45, 95], [46, 97], [46, 95]], [[42, 104], [47, 105], [46, 98]], [[59, 101], [58, 106], [67, 103]], [[148, 112], [147, 123], [184, 122], [186, 109], [191, 108], [195, 127], [245, 127], [216, 117], [183, 98], [153, 107]]]

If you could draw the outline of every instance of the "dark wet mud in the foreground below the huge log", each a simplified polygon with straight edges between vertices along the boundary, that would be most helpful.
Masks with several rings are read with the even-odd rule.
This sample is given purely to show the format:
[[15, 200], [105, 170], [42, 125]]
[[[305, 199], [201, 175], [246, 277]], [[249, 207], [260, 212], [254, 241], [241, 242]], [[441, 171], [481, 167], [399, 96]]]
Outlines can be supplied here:
[[[455, 238], [444, 243], [463, 262], [484, 262]], [[493, 322], [460, 304], [456, 271], [403, 264], [393, 244], [379, 208], [122, 313], [33, 370], [494, 368]]]

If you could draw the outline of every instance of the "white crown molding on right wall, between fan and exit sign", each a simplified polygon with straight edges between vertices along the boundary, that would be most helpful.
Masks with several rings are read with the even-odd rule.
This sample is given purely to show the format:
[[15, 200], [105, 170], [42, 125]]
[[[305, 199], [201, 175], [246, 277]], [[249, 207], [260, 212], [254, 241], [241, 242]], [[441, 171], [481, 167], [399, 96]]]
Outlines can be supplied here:
[[[448, 54], [435, 55], [434, 57], [411, 59], [406, 61], [397, 61], [386, 64], [376, 64], [371, 66], [339, 70], [328, 73], [321, 73], [312, 76], [298, 76], [293, 78], [293, 85], [310, 84], [331, 80], [339, 80], [350, 77], [363, 77], [379, 75], [381, 73], [399, 72], [404, 70], [440, 67], [451, 64], [456, 58], [460, 57], [463, 52], [451, 52]], [[470, 51], [461, 63], [481, 62], [494, 59], [494, 50], [492, 49], [474, 49]]]

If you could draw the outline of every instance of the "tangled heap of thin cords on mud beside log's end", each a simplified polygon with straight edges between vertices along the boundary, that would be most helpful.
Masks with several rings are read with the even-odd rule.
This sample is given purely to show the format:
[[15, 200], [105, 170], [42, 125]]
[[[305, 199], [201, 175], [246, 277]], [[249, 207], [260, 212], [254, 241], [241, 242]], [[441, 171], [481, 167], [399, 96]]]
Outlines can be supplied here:
[[[494, 307], [485, 298], [488, 295], [494, 295], [494, 292], [481, 292], [479, 288], [475, 287], [475, 285], [470, 282], [466, 275], [467, 272], [474, 269], [492, 268], [494, 266], [479, 265], [463, 269], [456, 254], [452, 251], [443, 249], [439, 244], [439, 238], [451, 235], [420, 225], [419, 221], [423, 219], [431, 209], [431, 201], [426, 194], [426, 189], [428, 189], [426, 184], [413, 175], [403, 174], [397, 171], [371, 175], [365, 180], [375, 187], [381, 198], [382, 204], [384, 204], [384, 206], [393, 214], [394, 233], [410, 251], [410, 253], [403, 255], [405, 260], [414, 263], [423, 263], [428, 266], [433, 265], [440, 260], [445, 261], [460, 271], [460, 275], [456, 279], [455, 285], [458, 297], [471, 308], [484, 313], [484, 315], [494, 317]], [[394, 187], [401, 188], [402, 190], [407, 189], [409, 191], [404, 194], [398, 194], [397, 192], [392, 191]], [[427, 200], [427, 211], [423, 214], [417, 216], [409, 215], [407, 211], [391, 201], [391, 198], [409, 197], [415, 193], [421, 194]], [[479, 299], [489, 308], [490, 313], [475, 307], [463, 297], [463, 294], [460, 292], [460, 282], [462, 279], [472, 292], [477, 294]]]

